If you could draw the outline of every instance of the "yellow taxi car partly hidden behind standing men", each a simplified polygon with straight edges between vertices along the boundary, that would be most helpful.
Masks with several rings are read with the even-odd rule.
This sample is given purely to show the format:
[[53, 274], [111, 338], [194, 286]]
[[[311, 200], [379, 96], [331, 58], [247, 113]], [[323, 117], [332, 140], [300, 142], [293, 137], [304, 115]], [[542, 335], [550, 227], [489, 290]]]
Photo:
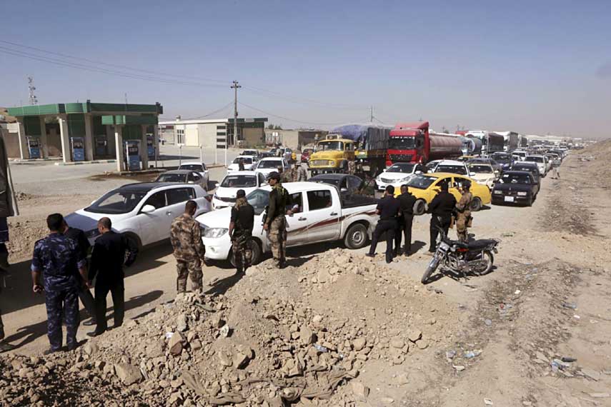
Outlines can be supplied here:
[[[427, 205], [431, 203], [433, 198], [440, 191], [439, 185], [447, 182], [448, 191], [454, 195], [457, 201], [460, 200], [461, 193], [459, 189], [465, 181], [471, 183], [471, 194], [473, 194], [473, 201], [471, 202], [471, 210], [479, 211], [482, 205], [488, 205], [492, 201], [492, 195], [490, 189], [482, 184], [477, 184], [473, 179], [467, 176], [459, 174], [451, 174], [444, 172], [435, 172], [430, 174], [414, 174], [407, 184], [407, 189], [416, 197], [417, 201], [414, 205], [414, 215], [422, 215], [426, 211]], [[395, 196], [401, 194], [398, 189], [394, 191]]]

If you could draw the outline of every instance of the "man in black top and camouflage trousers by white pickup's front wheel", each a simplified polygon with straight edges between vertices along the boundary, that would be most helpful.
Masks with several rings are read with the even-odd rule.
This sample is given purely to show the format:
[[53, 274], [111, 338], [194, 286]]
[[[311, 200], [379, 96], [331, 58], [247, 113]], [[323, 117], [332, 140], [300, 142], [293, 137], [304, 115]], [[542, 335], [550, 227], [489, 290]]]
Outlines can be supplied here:
[[252, 228], [254, 227], [254, 208], [246, 200], [246, 192], [239, 189], [236, 204], [232, 208], [229, 223], [229, 236], [232, 238], [232, 251], [238, 273], [245, 273], [252, 261]]

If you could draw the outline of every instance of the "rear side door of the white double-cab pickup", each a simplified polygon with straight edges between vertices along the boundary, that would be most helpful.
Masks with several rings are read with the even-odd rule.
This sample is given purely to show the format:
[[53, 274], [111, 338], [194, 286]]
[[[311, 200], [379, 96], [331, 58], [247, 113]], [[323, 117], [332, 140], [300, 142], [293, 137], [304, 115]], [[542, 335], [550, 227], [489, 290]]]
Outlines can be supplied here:
[[330, 189], [307, 191], [308, 241], [328, 241], [339, 238], [339, 216], [342, 204]]

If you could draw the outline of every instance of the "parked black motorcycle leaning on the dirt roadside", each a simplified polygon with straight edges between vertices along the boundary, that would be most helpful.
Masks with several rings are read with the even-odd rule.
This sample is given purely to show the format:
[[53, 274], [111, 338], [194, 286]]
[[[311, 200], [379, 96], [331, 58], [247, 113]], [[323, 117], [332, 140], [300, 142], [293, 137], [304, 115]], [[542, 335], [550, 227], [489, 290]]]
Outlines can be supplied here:
[[463, 243], [449, 239], [444, 231], [439, 228], [441, 240], [437, 245], [433, 258], [427, 270], [422, 276], [422, 283], [426, 284], [439, 266], [447, 268], [454, 273], [460, 273], [467, 277], [467, 273], [483, 276], [490, 273], [495, 263], [495, 256], [498, 253], [495, 239], [480, 239]]

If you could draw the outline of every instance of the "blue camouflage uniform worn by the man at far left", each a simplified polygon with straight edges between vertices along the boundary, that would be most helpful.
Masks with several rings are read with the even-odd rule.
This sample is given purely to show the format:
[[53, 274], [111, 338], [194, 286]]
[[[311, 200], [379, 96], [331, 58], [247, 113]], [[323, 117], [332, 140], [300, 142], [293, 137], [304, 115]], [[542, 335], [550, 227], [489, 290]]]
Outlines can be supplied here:
[[79, 328], [79, 268], [86, 259], [79, 253], [76, 242], [61, 233], [51, 233], [34, 245], [32, 271], [43, 273], [47, 336], [51, 351], [61, 348], [61, 318], [66, 320], [66, 345], [76, 347]]

